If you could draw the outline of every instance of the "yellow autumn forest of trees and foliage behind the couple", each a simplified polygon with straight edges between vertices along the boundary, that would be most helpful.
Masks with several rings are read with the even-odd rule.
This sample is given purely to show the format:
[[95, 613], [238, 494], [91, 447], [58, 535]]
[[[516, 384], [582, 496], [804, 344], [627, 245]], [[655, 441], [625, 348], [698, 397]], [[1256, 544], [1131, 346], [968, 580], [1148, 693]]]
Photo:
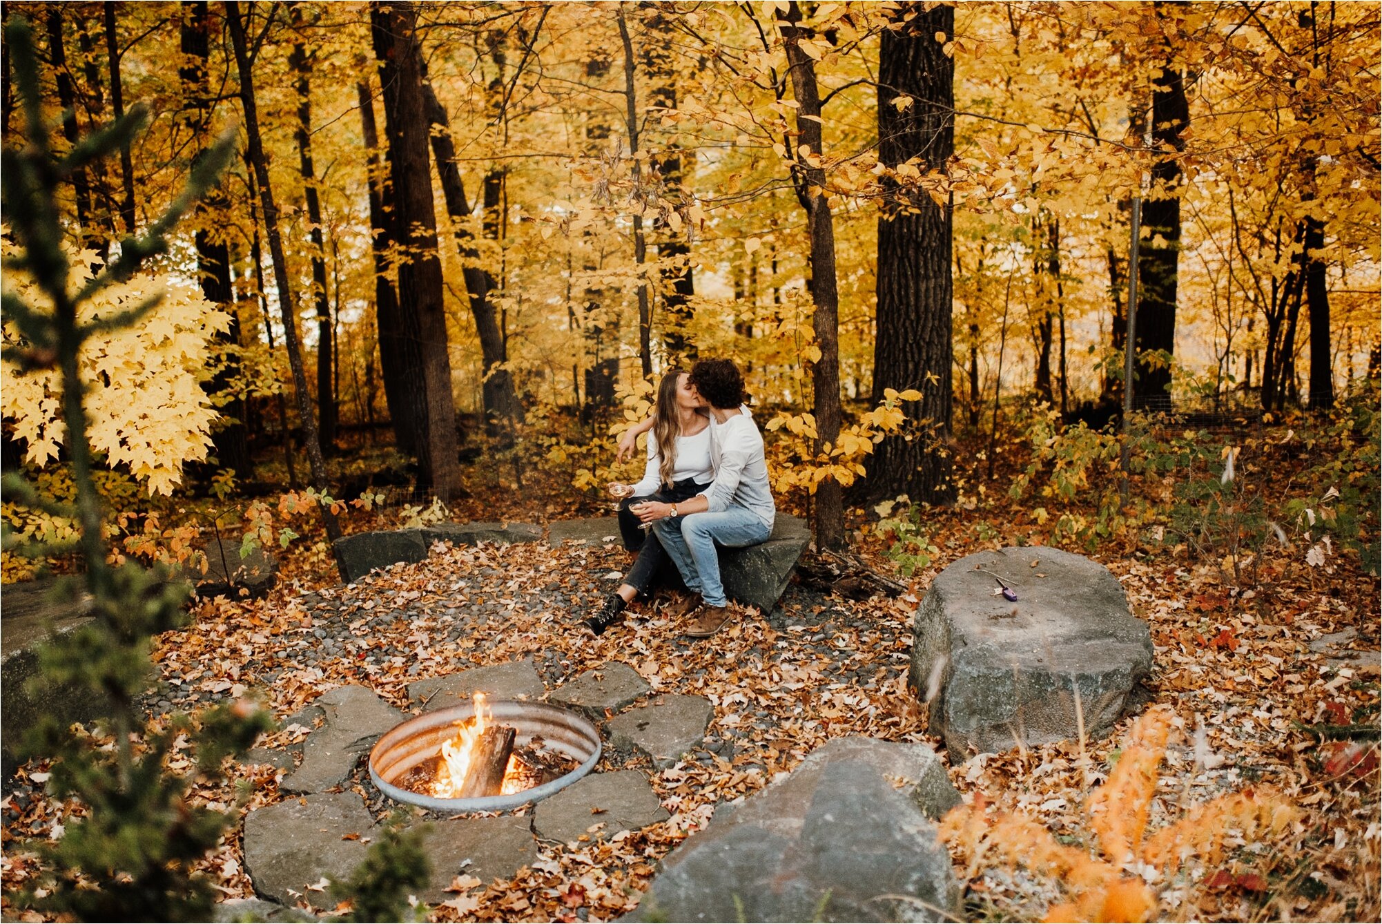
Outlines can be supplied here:
[[[232, 149], [166, 252], [82, 308], [164, 293], [80, 354], [112, 563], [195, 571], [225, 535], [307, 592], [343, 533], [608, 513], [658, 378], [730, 357], [813, 555], [918, 592], [984, 546], [1136, 562], [1148, 600], [1153, 574], [1198, 600], [1157, 645], [1209, 661], [1287, 611], [1375, 638], [1376, 4], [4, 15], [55, 156], [146, 107], [55, 187], [73, 285]], [[7, 39], [7, 151], [32, 141], [12, 59]], [[29, 268], [4, 286], [44, 303]], [[55, 354], [6, 313], [4, 469], [75, 501]], [[7, 584], [82, 569], [79, 516], [7, 487], [3, 519]], [[1282, 674], [1252, 683], [1299, 723], [1371, 729], [1321, 739], [1300, 784], [1375, 813], [1376, 674]], [[1255, 907], [1375, 913], [1368, 837], [1320, 860], [1325, 894]]]

